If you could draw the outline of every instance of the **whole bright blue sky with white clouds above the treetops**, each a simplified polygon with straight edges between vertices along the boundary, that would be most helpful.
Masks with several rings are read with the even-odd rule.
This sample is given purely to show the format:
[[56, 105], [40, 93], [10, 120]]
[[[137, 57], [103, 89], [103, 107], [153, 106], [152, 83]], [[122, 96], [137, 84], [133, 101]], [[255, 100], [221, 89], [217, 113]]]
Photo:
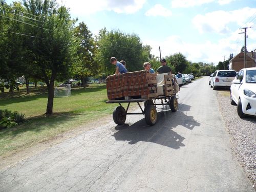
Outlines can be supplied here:
[[[11, 0], [6, 1], [8, 4]], [[70, 8], [72, 18], [99, 30], [137, 34], [152, 54], [182, 53], [191, 62], [227, 60], [245, 42], [256, 49], [256, 0], [57, 0]], [[251, 28], [250, 28], [251, 27]], [[241, 33], [241, 34], [240, 34]], [[256, 50], [255, 50], [256, 51]], [[114, 56], [114, 55], [110, 55]]]

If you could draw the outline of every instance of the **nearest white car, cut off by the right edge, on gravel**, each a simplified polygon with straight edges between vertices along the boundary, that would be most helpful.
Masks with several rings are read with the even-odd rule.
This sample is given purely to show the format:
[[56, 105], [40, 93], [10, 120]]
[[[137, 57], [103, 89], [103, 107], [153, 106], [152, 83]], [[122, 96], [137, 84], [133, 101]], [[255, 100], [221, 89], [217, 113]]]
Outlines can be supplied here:
[[256, 67], [238, 72], [230, 87], [230, 103], [238, 105], [240, 117], [256, 116]]

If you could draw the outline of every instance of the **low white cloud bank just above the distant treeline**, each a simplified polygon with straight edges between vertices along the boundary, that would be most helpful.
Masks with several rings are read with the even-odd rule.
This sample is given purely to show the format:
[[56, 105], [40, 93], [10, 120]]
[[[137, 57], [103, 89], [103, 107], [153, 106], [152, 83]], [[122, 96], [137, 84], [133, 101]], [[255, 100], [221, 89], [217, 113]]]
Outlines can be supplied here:
[[[162, 41], [159, 40], [143, 40], [144, 44], [152, 47], [152, 54], [159, 57], [159, 46], [161, 47], [161, 56], [165, 57], [175, 53], [182, 53], [187, 60], [192, 62], [214, 62], [215, 65], [219, 61], [223, 61], [223, 55], [225, 59], [228, 59], [229, 54], [237, 55], [242, 46], [244, 45], [244, 37], [238, 34], [238, 31], [231, 33], [228, 38], [222, 38], [218, 41], [206, 41], [203, 43], [190, 43], [182, 40], [182, 37], [173, 35], [169, 36]], [[256, 31], [252, 31], [254, 34]], [[255, 41], [248, 39], [251, 42], [247, 45], [247, 50], [251, 51], [255, 49]]]

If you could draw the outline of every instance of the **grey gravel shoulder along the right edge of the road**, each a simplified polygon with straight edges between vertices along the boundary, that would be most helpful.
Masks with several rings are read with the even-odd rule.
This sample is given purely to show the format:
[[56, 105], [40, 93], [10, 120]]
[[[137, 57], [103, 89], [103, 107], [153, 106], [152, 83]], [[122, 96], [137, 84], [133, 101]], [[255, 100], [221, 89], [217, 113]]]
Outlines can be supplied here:
[[241, 119], [237, 106], [230, 104], [227, 90], [218, 91], [218, 102], [230, 135], [232, 151], [256, 189], [256, 117]]

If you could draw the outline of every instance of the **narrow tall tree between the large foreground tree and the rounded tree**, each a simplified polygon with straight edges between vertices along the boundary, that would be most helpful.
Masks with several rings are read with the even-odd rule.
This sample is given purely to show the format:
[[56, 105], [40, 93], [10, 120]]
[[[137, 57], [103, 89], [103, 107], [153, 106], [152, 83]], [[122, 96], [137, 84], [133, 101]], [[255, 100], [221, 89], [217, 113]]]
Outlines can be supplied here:
[[96, 44], [93, 39], [92, 33], [83, 22], [74, 29], [74, 35], [78, 41], [77, 55], [78, 58], [73, 65], [73, 73], [78, 74], [86, 88], [85, 78], [90, 75], [96, 75], [98, 65], [94, 61]]

